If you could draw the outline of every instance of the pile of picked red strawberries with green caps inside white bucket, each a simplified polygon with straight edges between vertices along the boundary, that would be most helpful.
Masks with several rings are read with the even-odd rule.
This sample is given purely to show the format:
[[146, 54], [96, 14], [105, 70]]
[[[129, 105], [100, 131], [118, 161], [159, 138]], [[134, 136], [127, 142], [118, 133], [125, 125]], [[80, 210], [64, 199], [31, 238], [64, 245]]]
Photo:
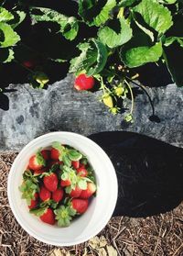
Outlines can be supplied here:
[[79, 151], [54, 142], [31, 156], [19, 187], [29, 212], [59, 227], [86, 212], [96, 182], [92, 166]]

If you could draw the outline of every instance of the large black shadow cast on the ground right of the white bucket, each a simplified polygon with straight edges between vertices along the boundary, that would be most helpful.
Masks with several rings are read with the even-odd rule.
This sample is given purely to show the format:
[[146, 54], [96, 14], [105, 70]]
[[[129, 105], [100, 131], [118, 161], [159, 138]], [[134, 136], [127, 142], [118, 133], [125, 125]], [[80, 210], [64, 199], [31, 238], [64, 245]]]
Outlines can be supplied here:
[[113, 216], [153, 216], [183, 200], [182, 149], [132, 132], [102, 132], [89, 138], [107, 152], [117, 173]]

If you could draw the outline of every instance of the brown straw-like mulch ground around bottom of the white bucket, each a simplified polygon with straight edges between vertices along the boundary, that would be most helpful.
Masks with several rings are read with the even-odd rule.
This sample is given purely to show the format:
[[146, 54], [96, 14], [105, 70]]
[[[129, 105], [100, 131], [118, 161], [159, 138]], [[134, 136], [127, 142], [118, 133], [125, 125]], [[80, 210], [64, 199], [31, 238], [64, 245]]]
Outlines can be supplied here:
[[8, 205], [7, 175], [16, 153], [0, 154], [0, 255], [2, 256], [183, 256], [183, 203], [155, 217], [112, 217], [97, 237], [69, 248], [30, 237]]

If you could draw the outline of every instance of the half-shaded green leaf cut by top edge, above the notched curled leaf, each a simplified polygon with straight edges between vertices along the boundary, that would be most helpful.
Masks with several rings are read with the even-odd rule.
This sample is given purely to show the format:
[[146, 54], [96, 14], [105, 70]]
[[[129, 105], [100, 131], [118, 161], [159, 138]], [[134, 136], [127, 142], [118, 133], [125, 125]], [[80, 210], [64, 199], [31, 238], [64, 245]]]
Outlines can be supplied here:
[[114, 6], [115, 0], [80, 0], [79, 15], [89, 26], [100, 27], [110, 18]]

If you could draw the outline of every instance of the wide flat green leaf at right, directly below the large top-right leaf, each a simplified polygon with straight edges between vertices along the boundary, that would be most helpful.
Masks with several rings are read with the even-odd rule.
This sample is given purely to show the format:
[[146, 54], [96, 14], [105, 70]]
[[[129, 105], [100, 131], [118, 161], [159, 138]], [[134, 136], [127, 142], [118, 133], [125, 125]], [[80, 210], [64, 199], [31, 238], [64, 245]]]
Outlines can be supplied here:
[[154, 46], [140, 46], [129, 50], [121, 50], [121, 59], [129, 68], [135, 68], [148, 62], [158, 61], [163, 53], [161, 42]]

